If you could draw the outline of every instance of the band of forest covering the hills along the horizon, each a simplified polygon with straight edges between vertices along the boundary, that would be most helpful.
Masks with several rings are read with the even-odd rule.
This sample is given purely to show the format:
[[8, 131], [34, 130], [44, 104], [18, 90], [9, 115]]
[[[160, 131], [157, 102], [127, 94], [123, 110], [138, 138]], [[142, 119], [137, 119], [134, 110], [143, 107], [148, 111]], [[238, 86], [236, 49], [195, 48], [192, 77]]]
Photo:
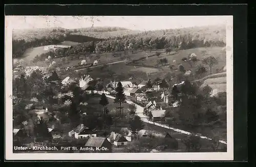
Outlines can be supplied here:
[[[120, 35], [117, 37], [105, 36], [105, 34], [110, 34], [110, 32], [106, 31], [115, 32], [114, 30], [115, 29], [111, 30], [110, 28], [104, 29], [103, 27], [101, 31], [103, 33], [101, 33], [98, 27], [98, 29], [95, 30], [82, 29], [82, 31], [80, 31], [75, 29], [73, 31], [67, 31], [66, 34], [59, 34], [59, 32], [65, 31], [62, 29], [54, 29], [52, 31], [56, 32], [57, 35], [34, 38], [29, 41], [26, 41], [25, 39], [13, 39], [13, 58], [22, 56], [25, 50], [30, 47], [58, 44], [63, 41], [81, 43], [71, 47], [69, 51], [70, 54], [80, 54], [83, 53], [84, 50], [90, 52], [117, 52], [128, 49], [136, 51], [138, 49], [189, 49], [195, 47], [225, 46], [224, 26], [146, 31], [143, 33]], [[119, 31], [119, 29], [117, 30]], [[120, 31], [123, 30], [120, 29]], [[80, 35], [75, 32], [80, 32]], [[100, 32], [101, 36], [98, 36], [98, 32]], [[93, 46], [91, 45], [92, 41]], [[90, 49], [87, 47], [90, 47]]]

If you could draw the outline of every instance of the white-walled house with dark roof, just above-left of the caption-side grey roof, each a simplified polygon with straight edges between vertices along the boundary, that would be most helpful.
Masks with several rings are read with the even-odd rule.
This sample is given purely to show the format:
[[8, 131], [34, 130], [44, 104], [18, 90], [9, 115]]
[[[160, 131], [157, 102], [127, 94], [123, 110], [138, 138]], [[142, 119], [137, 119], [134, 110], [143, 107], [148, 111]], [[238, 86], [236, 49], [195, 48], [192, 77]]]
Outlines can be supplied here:
[[84, 126], [83, 124], [77, 125], [75, 129], [73, 129], [69, 132], [70, 137], [74, 137], [77, 139], [78, 138], [86, 138], [86, 137], [90, 137], [90, 136], [96, 137], [96, 135], [97, 135], [96, 132], [94, 132], [90, 128]]

